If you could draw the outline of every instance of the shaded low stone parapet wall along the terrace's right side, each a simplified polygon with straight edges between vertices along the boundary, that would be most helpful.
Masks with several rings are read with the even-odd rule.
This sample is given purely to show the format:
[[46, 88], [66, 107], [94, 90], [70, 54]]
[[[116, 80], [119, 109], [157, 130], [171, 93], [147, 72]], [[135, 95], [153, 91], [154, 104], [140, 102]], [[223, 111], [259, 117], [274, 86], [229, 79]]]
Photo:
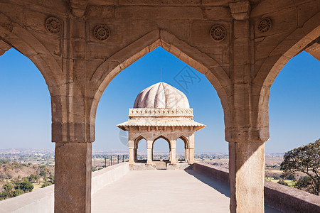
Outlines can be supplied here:
[[[229, 184], [225, 168], [197, 162], [193, 170]], [[265, 204], [282, 212], [320, 212], [320, 196], [270, 181], [265, 181]]]

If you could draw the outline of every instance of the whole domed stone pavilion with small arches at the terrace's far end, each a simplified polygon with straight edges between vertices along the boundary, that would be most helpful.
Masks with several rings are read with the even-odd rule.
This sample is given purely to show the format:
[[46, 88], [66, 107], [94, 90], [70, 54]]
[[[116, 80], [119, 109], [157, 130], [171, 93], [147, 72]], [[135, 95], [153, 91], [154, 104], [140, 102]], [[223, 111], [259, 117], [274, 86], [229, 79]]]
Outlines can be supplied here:
[[185, 147], [185, 160], [194, 163], [194, 132], [206, 125], [193, 121], [185, 94], [164, 82], [154, 84], [140, 92], [129, 109], [129, 121], [117, 127], [129, 132], [129, 164], [137, 162], [138, 143], [146, 140], [146, 164], [153, 162], [154, 142], [164, 138], [169, 143], [170, 164], [176, 165], [176, 140], [181, 138]]

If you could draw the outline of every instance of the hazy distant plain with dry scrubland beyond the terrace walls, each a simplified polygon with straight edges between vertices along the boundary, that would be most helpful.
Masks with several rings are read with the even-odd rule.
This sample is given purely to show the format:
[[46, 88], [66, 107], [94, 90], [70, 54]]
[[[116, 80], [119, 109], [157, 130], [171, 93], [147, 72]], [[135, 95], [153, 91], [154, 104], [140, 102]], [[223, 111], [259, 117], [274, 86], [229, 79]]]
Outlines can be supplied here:
[[[184, 154], [177, 153], [177, 160]], [[138, 153], [139, 160], [146, 160], [146, 153]], [[92, 172], [129, 160], [127, 151], [92, 151]], [[169, 153], [154, 153], [154, 160], [169, 160]], [[195, 160], [228, 169], [228, 153], [196, 153]], [[265, 180], [294, 187], [303, 176], [282, 179], [279, 170], [283, 153], [265, 154]], [[54, 184], [54, 150], [11, 148], [0, 150], [0, 200], [16, 197]]]

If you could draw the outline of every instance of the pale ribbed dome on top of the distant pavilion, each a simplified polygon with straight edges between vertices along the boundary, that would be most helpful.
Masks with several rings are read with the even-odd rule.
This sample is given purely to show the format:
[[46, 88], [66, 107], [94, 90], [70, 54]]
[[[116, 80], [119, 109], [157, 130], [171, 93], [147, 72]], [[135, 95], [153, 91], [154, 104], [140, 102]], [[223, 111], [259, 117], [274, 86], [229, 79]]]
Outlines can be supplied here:
[[142, 90], [134, 101], [134, 108], [189, 109], [190, 107], [183, 92], [160, 82]]

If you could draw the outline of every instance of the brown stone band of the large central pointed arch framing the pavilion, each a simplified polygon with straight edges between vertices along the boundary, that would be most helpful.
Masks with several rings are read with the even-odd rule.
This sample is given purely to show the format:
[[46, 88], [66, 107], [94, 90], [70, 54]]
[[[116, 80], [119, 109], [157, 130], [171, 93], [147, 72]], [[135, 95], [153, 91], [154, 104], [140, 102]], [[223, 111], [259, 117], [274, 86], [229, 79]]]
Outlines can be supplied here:
[[119, 72], [131, 65], [133, 62], [142, 58], [146, 53], [151, 52], [158, 46], [164, 48], [176, 58], [180, 59], [194, 69], [206, 75], [206, 78], [213, 85], [220, 97], [220, 101], [225, 111], [225, 123], [228, 124], [228, 94], [231, 93], [230, 78], [223, 67], [213, 58], [202, 53], [197, 48], [192, 47], [183, 40], [179, 40], [175, 35], [164, 30], [154, 30], [134, 41], [127, 47], [119, 50], [110, 58], [102, 62], [90, 77], [90, 87], [97, 88], [92, 100], [90, 117], [95, 119], [97, 105], [105, 91], [107, 85], [116, 77]]

